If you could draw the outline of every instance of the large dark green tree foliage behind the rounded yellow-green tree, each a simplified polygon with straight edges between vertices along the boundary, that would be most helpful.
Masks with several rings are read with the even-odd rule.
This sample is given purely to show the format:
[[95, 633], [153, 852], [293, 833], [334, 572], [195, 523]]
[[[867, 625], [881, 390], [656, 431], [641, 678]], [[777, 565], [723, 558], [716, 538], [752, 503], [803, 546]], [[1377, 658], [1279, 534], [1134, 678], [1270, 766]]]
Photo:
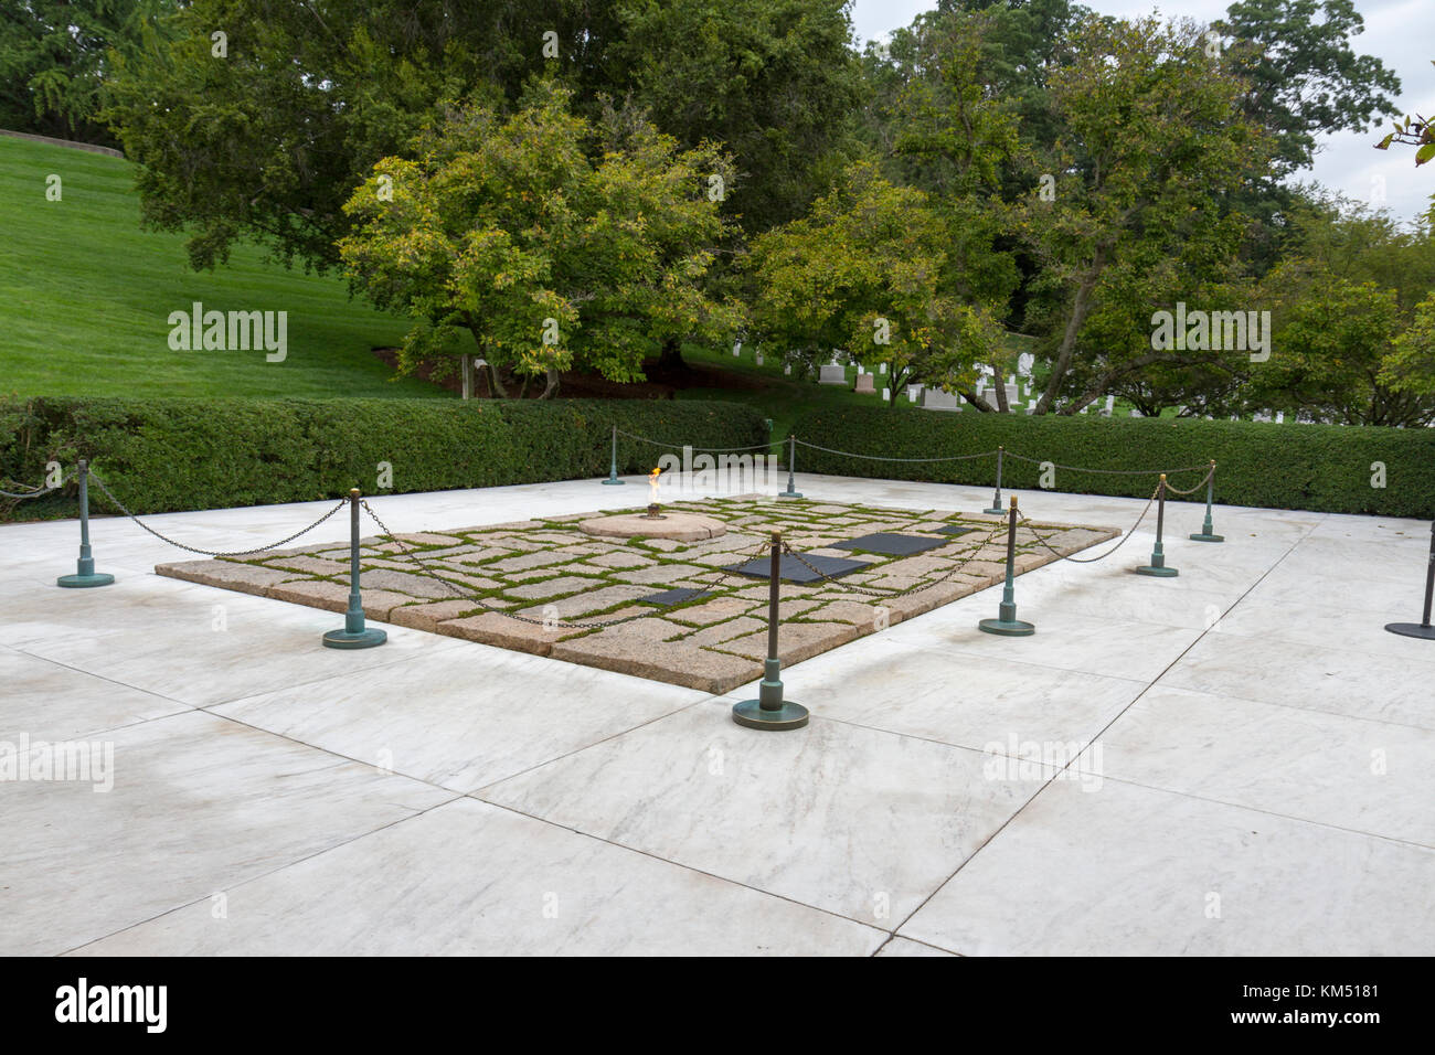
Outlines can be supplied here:
[[194, 0], [174, 26], [123, 63], [108, 115], [145, 220], [189, 231], [197, 267], [237, 238], [336, 264], [342, 205], [379, 158], [442, 100], [512, 106], [534, 75], [590, 119], [611, 98], [683, 146], [732, 144], [725, 210], [776, 222], [821, 189], [857, 90], [838, 0]]

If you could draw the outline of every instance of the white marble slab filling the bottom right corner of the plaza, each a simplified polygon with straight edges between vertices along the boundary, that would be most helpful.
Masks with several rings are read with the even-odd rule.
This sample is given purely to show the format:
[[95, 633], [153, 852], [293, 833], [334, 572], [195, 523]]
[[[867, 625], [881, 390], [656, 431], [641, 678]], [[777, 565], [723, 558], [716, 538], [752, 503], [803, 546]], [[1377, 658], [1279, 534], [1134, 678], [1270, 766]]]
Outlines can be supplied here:
[[900, 929], [967, 956], [1428, 956], [1435, 851], [1056, 781]]

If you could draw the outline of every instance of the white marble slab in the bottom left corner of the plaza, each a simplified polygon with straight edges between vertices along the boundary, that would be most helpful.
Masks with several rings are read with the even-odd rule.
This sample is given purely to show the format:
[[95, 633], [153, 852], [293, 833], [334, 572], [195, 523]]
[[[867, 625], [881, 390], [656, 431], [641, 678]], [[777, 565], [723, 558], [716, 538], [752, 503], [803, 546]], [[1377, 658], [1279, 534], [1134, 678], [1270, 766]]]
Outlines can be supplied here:
[[106, 735], [113, 789], [0, 784], [0, 955], [55, 955], [453, 798], [191, 711]]

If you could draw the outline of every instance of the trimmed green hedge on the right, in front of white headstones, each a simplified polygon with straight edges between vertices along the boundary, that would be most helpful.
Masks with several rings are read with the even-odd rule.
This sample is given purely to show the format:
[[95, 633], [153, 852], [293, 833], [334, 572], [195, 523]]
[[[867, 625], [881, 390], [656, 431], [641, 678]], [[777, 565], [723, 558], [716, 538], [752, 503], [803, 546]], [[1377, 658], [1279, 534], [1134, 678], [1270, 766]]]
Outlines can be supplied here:
[[[837, 451], [888, 458], [937, 458], [994, 451], [1091, 469], [1151, 469], [1114, 477], [1056, 469], [1056, 491], [1147, 498], [1155, 474], [1215, 459], [1215, 501], [1276, 510], [1435, 517], [1435, 429], [1274, 425], [1191, 418], [1027, 418], [996, 413], [844, 408], [817, 411], [796, 425], [798, 439]], [[1372, 487], [1373, 462], [1385, 487]], [[798, 448], [798, 471], [845, 477], [996, 482], [996, 458], [969, 462], [874, 462]], [[1171, 477], [1194, 487], [1200, 472]], [[1040, 468], [1007, 458], [1003, 484], [1038, 488]], [[1204, 489], [1187, 501], [1204, 501]]]

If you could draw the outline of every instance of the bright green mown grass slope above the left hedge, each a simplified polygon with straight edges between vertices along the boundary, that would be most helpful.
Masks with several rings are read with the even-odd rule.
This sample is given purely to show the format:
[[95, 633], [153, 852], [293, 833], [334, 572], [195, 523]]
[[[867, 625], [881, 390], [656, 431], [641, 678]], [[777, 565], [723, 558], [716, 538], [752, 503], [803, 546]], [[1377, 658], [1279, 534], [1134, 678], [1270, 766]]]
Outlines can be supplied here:
[[[408, 326], [350, 300], [340, 278], [265, 263], [253, 245], [192, 271], [184, 237], [139, 230], [132, 165], [0, 136], [0, 393], [20, 396], [436, 396], [370, 352]], [[46, 177], [63, 198], [46, 201]], [[288, 356], [171, 350], [168, 316], [288, 313]]]

